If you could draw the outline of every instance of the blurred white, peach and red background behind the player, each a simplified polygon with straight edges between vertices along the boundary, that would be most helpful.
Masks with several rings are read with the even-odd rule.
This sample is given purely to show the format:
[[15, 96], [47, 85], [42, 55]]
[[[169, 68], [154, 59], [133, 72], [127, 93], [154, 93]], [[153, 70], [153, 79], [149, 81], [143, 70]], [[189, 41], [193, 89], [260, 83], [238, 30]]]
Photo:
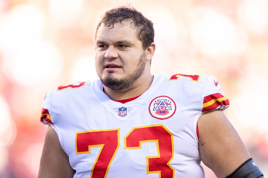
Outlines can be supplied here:
[[215, 76], [225, 114], [267, 176], [267, 0], [0, 0], [0, 177], [37, 176], [46, 92], [97, 78], [96, 25], [127, 4], [154, 23], [152, 73]]

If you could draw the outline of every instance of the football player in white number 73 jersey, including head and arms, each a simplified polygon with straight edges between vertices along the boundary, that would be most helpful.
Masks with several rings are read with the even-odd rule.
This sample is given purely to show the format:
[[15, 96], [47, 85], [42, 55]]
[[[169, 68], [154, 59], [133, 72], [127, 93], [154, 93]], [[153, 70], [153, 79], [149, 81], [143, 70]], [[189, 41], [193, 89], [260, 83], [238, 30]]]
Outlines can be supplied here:
[[214, 77], [151, 74], [154, 28], [142, 13], [107, 11], [95, 40], [99, 79], [45, 97], [38, 178], [204, 178], [201, 161], [220, 178], [263, 177]]

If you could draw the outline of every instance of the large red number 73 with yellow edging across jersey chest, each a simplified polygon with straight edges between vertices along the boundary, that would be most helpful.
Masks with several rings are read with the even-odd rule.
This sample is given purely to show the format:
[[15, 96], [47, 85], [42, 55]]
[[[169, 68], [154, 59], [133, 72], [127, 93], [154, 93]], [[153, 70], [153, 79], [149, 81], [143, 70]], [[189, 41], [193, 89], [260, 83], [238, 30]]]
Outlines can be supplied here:
[[[124, 137], [125, 149], [140, 149], [143, 142], [156, 142], [157, 145], [158, 155], [146, 157], [147, 173], [158, 173], [159, 178], [174, 178], [174, 169], [170, 165], [174, 157], [172, 133], [160, 124], [134, 127]], [[90, 177], [106, 177], [119, 147], [119, 129], [77, 132], [75, 143], [76, 154], [90, 153], [90, 148], [101, 146]]]

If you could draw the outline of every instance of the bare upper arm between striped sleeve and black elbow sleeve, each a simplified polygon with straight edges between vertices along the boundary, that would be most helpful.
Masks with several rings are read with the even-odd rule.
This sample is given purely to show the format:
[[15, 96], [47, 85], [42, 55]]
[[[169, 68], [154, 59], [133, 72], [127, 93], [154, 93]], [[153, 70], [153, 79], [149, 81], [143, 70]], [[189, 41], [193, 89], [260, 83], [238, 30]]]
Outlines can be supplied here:
[[230, 175], [250, 158], [243, 141], [222, 111], [204, 113], [198, 120], [198, 130], [201, 159], [217, 177]]

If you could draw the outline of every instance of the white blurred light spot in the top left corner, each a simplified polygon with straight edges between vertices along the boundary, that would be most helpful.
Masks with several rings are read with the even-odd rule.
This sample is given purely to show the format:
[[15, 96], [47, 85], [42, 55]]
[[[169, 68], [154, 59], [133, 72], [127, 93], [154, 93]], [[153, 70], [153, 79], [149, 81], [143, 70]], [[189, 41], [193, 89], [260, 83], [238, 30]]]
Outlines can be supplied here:
[[[1, 2], [1, 1], [0, 1]], [[17, 5], [0, 16], [0, 47], [12, 53], [42, 38], [44, 14], [32, 5]]]

